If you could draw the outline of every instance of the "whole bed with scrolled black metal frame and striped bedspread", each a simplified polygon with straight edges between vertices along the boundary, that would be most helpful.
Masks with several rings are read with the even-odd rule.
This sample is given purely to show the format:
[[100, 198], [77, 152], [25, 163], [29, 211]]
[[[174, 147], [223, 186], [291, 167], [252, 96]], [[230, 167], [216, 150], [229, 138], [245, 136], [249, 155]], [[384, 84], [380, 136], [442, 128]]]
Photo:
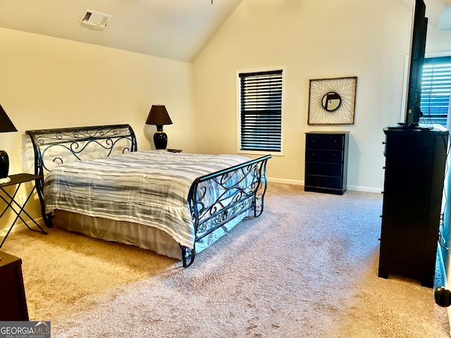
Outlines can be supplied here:
[[186, 268], [264, 209], [271, 155], [138, 151], [130, 125], [27, 130], [47, 227], [150, 249]]

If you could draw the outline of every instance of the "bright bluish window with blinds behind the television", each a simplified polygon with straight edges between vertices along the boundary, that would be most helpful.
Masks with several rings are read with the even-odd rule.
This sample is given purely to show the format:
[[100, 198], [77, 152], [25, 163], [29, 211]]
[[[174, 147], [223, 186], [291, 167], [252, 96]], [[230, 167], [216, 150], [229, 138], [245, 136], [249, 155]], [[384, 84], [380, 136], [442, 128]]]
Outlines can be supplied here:
[[423, 119], [446, 127], [450, 96], [451, 56], [425, 58], [421, 82]]

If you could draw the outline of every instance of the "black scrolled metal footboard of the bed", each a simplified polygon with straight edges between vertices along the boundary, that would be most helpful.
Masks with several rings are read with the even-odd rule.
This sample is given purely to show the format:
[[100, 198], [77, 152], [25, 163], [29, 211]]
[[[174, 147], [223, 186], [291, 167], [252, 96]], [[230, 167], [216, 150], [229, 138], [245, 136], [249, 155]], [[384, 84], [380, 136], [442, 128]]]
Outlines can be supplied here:
[[[261, 215], [267, 186], [266, 163], [269, 158], [271, 155], [263, 156], [194, 180], [188, 204], [195, 239], [193, 249], [181, 246], [185, 268], [194, 262], [195, 247], [199, 240], [244, 213], [246, 218]], [[216, 199], [213, 203], [206, 203], [206, 196], [211, 191], [216, 192]]]

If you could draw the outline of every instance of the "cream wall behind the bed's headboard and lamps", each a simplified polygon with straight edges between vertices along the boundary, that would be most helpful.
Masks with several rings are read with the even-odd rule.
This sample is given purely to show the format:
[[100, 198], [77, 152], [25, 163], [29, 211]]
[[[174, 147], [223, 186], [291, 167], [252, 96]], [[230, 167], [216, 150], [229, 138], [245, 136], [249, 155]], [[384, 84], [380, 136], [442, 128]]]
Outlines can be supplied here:
[[[0, 104], [18, 129], [0, 134], [10, 174], [33, 172], [30, 129], [129, 123], [138, 148], [150, 149], [152, 104], [165, 104], [171, 115], [168, 147], [196, 151], [191, 63], [5, 28], [0, 41]], [[7, 224], [1, 218], [0, 228]]]

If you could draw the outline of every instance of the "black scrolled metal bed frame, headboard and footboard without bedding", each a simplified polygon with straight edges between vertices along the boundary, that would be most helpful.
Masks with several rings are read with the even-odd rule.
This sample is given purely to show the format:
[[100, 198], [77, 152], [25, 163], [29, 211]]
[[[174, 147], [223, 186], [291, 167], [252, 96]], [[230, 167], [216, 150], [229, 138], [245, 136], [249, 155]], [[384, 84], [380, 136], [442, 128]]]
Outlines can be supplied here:
[[[46, 174], [61, 163], [104, 158], [137, 151], [135, 132], [130, 125], [103, 125], [68, 127], [47, 130], [27, 130], [35, 154], [35, 174], [42, 178], [36, 189], [41, 203], [42, 217], [47, 227], [52, 227], [53, 213], [46, 213], [44, 205], [44, 180]], [[94, 150], [95, 149], [95, 150]], [[264, 209], [266, 192], [266, 163], [271, 155], [235, 165], [216, 173], [197, 177], [187, 197], [194, 225], [194, 248], [180, 245], [183, 266], [190, 266], [195, 257], [195, 245], [230, 220], [245, 213], [245, 218], [257, 218]], [[233, 175], [242, 179], [226, 187]], [[213, 204], [204, 204], [205, 185], [219, 189]]]

